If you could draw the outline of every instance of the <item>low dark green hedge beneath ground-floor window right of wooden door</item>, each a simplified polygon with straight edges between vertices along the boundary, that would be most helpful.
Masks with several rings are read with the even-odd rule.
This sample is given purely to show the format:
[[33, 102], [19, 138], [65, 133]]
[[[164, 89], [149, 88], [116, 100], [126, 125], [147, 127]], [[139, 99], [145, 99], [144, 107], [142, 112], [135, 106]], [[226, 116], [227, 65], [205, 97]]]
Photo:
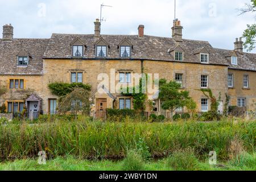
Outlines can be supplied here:
[[113, 118], [113, 117], [134, 118], [136, 115], [135, 110], [132, 110], [132, 109], [106, 109], [106, 114], [108, 118]]

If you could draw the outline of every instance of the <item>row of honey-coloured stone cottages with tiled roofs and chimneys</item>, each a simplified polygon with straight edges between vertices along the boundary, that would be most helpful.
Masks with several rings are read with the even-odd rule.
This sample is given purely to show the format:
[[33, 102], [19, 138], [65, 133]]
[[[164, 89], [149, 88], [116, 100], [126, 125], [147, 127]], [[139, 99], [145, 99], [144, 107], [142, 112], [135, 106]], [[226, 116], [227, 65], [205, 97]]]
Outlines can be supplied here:
[[[13, 28], [3, 27], [6, 36], [0, 39], [0, 85], [7, 92], [0, 97], [0, 105], [5, 104], [7, 108], [9, 102], [24, 102], [24, 106], [30, 107], [27, 110], [48, 113], [51, 100], [57, 100], [48, 84], [71, 83], [71, 73], [82, 73], [82, 82], [92, 85], [94, 110], [98, 100], [106, 100], [107, 108], [118, 109], [120, 99], [133, 101], [112, 93], [110, 83], [119, 84], [119, 73], [158, 73], [159, 78], [168, 81], [181, 74], [183, 89], [196, 101], [198, 111], [201, 111], [201, 99], [205, 98], [199, 91], [201, 75], [208, 76], [208, 88], [223, 103], [228, 94], [230, 105], [237, 105], [238, 98], [246, 98], [247, 109], [255, 109], [256, 54], [242, 52], [241, 39], [234, 43], [234, 50], [224, 50], [212, 48], [208, 42], [183, 39], [180, 22], [174, 22], [173, 38], [144, 35], [142, 25], [138, 28], [139, 35], [100, 35], [100, 22], [96, 20], [95, 26], [92, 35], [53, 34], [51, 39], [14, 39]], [[82, 46], [81, 56], [73, 56], [72, 46]], [[106, 46], [106, 57], [96, 56], [97, 46]], [[120, 56], [121, 46], [130, 47], [130, 57]], [[182, 60], [175, 59], [175, 52], [182, 53]], [[208, 55], [207, 63], [201, 63], [202, 53]], [[28, 64], [18, 65], [19, 56], [27, 57]], [[237, 57], [237, 65], [231, 64], [232, 56]], [[104, 93], [98, 90], [102, 86], [102, 74], [109, 78], [102, 88]], [[228, 88], [228, 74], [233, 74], [233, 88]], [[249, 76], [249, 88], [243, 88], [243, 75]], [[11, 80], [23, 80], [23, 88], [10, 89]], [[152, 94], [148, 94], [148, 99], [158, 102]], [[162, 110], [159, 103], [155, 107]], [[147, 110], [151, 108], [147, 106]]]

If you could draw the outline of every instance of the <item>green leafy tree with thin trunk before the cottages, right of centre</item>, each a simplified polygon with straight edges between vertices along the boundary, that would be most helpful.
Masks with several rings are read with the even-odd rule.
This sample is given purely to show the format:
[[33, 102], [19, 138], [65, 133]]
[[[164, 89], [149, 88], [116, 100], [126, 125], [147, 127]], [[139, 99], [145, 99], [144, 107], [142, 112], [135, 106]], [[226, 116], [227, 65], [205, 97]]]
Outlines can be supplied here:
[[180, 91], [181, 85], [175, 81], [167, 82], [165, 79], [159, 80], [159, 99], [163, 101], [162, 108], [171, 111], [171, 119], [176, 109], [186, 106], [191, 97], [188, 91]]

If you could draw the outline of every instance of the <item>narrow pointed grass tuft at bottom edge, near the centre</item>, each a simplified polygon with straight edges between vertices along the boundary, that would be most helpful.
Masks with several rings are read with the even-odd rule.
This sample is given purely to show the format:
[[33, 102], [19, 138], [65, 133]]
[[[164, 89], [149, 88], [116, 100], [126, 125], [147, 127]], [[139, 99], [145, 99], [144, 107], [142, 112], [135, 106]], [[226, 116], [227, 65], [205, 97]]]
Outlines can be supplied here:
[[127, 153], [126, 158], [123, 160], [123, 171], [143, 171], [144, 163], [142, 156], [138, 152], [131, 150]]

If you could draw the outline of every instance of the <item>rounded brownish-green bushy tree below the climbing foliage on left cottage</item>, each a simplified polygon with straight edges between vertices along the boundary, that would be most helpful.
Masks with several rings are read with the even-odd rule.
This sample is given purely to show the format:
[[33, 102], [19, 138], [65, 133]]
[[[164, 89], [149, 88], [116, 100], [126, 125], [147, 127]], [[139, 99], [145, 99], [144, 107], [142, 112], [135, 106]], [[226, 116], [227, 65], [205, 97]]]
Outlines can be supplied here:
[[91, 104], [89, 90], [75, 88], [66, 96], [60, 97], [57, 111], [62, 114], [71, 113], [76, 116], [78, 113], [89, 115]]

